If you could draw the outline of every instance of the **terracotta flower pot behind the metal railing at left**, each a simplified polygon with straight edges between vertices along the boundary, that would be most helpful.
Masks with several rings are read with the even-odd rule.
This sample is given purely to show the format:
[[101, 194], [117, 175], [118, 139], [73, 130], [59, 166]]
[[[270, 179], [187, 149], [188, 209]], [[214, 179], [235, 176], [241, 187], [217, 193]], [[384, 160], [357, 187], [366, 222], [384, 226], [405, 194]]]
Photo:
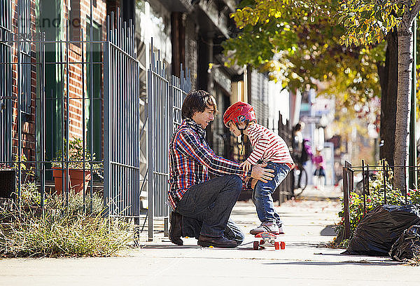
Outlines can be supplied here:
[[[66, 170], [62, 172], [59, 168], [53, 168], [52, 170], [52, 177], [54, 177], [55, 182], [55, 191], [57, 192], [57, 195], [61, 194], [63, 191], [62, 186], [62, 175], [64, 175], [64, 184], [67, 184], [66, 182]], [[87, 186], [90, 182], [90, 171], [85, 170], [85, 178], [83, 179], [83, 170], [78, 169], [69, 169], [69, 178], [70, 178], [70, 189], [73, 189], [75, 193], [80, 193], [80, 191], [83, 190], [83, 182], [85, 182], [85, 191], [87, 189]]]

